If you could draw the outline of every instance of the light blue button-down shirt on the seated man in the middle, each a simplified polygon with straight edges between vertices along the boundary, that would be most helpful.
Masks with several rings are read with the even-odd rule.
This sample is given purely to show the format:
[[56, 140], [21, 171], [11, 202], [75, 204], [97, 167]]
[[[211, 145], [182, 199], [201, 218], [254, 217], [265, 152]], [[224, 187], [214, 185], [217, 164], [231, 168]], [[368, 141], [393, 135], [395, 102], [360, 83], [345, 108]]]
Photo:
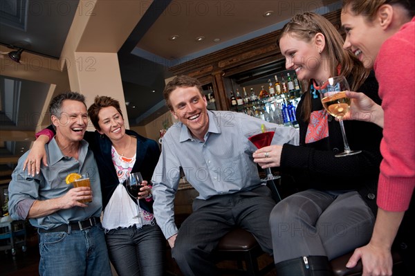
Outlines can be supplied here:
[[181, 122], [170, 127], [163, 136], [152, 182], [154, 214], [167, 239], [178, 232], [174, 223], [174, 194], [181, 177], [180, 167], [187, 181], [199, 192], [198, 199], [209, 199], [264, 185], [252, 158], [257, 148], [247, 136], [260, 130], [262, 124], [277, 128], [273, 145], [298, 145], [298, 131], [293, 127], [279, 127], [230, 111], [208, 111], [208, 116], [209, 128], [204, 142], [194, 138]]

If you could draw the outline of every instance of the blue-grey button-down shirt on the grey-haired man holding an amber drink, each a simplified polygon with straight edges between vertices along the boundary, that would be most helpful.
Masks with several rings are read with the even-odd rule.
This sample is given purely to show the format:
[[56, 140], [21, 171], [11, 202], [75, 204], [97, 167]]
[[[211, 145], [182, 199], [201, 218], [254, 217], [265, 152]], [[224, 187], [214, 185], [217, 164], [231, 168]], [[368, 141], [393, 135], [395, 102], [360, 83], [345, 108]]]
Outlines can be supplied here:
[[37, 228], [50, 229], [68, 224], [70, 221], [84, 221], [90, 217], [100, 217], [102, 210], [102, 195], [100, 176], [93, 153], [89, 150], [88, 142], [80, 142], [79, 157], [64, 156], [59, 149], [55, 138], [45, 145], [48, 167], [40, 168], [40, 173], [31, 176], [27, 170], [23, 171], [23, 163], [28, 152], [21, 156], [19, 163], [12, 174], [9, 191], [9, 211], [12, 219], [26, 219], [35, 200], [44, 201], [63, 196], [73, 185], [66, 184], [68, 174], [89, 174], [93, 199], [88, 207], [73, 207], [62, 209], [48, 214], [45, 217], [30, 219], [30, 223]]

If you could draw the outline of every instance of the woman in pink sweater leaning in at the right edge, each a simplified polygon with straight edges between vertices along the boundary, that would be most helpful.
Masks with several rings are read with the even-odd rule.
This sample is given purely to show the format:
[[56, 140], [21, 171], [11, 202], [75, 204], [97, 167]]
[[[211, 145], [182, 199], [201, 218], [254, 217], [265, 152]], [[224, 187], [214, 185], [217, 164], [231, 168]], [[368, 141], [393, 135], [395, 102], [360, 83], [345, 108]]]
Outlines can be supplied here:
[[[415, 185], [414, 1], [343, 0], [344, 48], [374, 68], [382, 109], [361, 93], [349, 93], [349, 119], [383, 127], [378, 214], [371, 241], [355, 250], [347, 267], [362, 259], [363, 275], [391, 275], [391, 245], [409, 208]], [[413, 250], [414, 245], [409, 245]]]

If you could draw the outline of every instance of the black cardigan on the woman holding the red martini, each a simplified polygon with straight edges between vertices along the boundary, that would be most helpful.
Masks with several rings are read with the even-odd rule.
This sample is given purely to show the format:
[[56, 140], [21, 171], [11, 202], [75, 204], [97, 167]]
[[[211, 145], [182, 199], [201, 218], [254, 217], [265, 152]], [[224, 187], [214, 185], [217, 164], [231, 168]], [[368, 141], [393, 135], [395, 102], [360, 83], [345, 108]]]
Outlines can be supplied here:
[[[380, 104], [378, 82], [373, 72], [358, 91]], [[322, 109], [320, 97], [313, 99], [312, 104], [313, 111]], [[294, 185], [297, 190], [357, 190], [376, 214], [375, 198], [382, 160], [382, 128], [370, 122], [344, 121], [350, 148], [360, 149], [362, 152], [352, 156], [335, 157], [337, 152], [344, 150], [339, 122], [329, 116], [329, 137], [306, 144], [308, 122], [302, 120], [301, 106], [302, 100], [298, 104], [296, 114], [300, 146], [286, 144], [282, 149], [280, 170], [284, 176], [283, 183]]]

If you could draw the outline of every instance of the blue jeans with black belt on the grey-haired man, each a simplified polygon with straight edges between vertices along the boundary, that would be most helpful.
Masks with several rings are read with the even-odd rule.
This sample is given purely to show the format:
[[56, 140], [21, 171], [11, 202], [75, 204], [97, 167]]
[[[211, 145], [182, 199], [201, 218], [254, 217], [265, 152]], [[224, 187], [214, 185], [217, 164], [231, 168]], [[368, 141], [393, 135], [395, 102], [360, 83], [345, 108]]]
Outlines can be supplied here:
[[39, 233], [39, 275], [108, 275], [111, 266], [101, 223], [86, 230]]

